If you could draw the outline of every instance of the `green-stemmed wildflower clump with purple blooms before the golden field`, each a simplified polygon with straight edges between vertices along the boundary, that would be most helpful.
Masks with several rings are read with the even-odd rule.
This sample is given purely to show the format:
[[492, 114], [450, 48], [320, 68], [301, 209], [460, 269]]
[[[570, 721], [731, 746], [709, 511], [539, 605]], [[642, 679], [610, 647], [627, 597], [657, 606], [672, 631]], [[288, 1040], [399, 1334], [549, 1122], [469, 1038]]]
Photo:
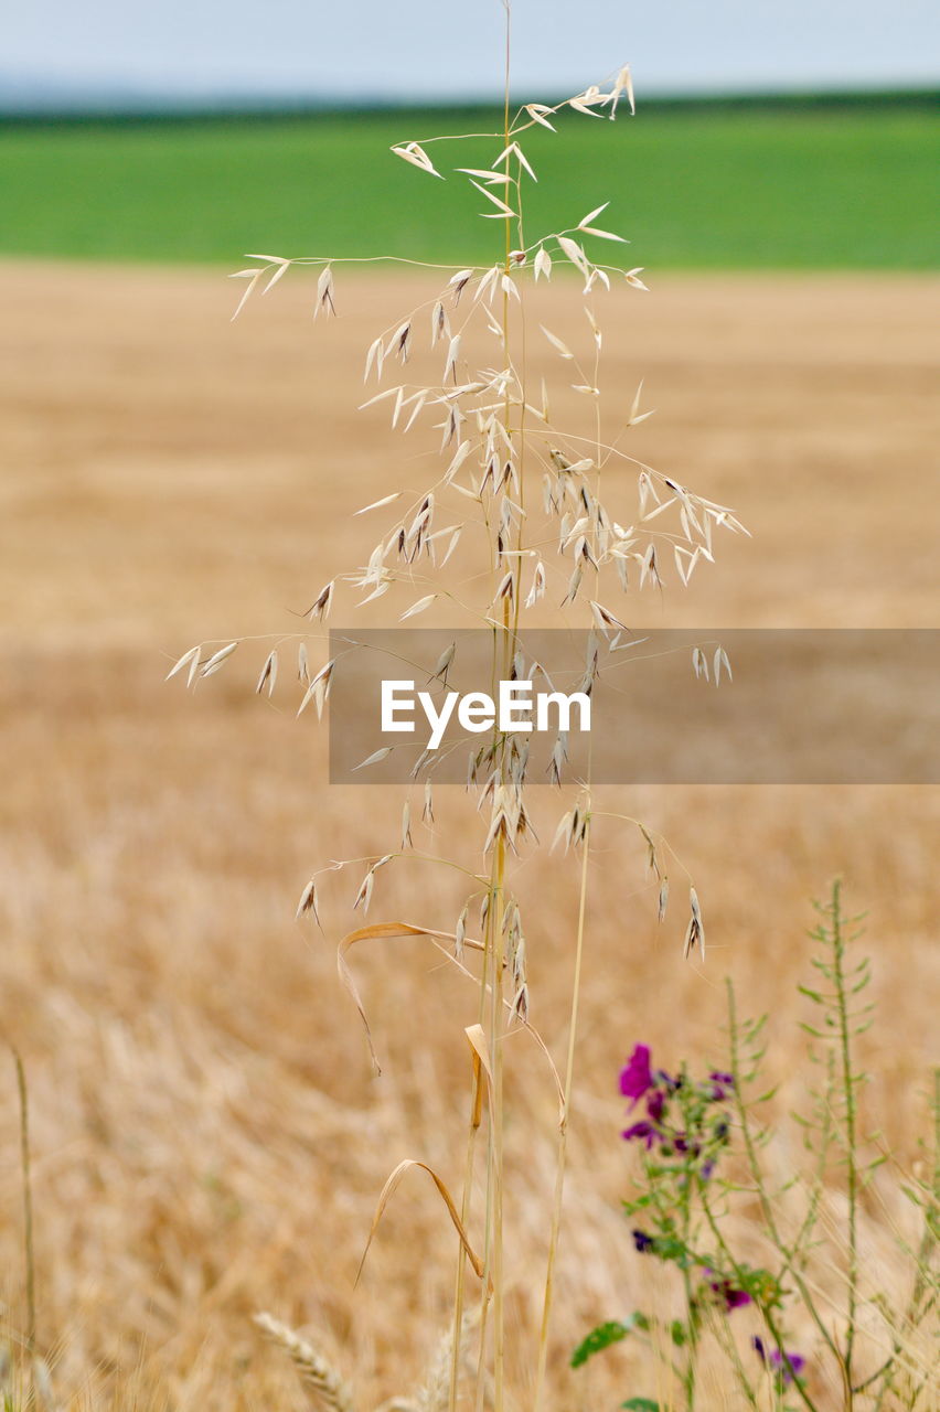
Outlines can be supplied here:
[[[766, 1017], [740, 1021], [731, 981], [727, 1067], [696, 1077], [683, 1063], [668, 1073], [653, 1067], [649, 1048], [638, 1043], [620, 1076], [631, 1114], [622, 1137], [638, 1154], [635, 1195], [624, 1202], [631, 1238], [644, 1261], [675, 1268], [682, 1315], [663, 1320], [638, 1309], [604, 1323], [577, 1347], [572, 1364], [582, 1367], [624, 1339], [642, 1340], [651, 1364], [665, 1365], [676, 1395], [662, 1404], [632, 1396], [622, 1405], [635, 1412], [701, 1405], [697, 1374], [706, 1340], [727, 1360], [727, 1401], [734, 1405], [786, 1412], [936, 1406], [930, 1398], [940, 1384], [924, 1336], [932, 1319], [936, 1324], [940, 1295], [940, 1073], [926, 1171], [893, 1173], [922, 1219], [916, 1245], [899, 1237], [909, 1288], [898, 1306], [879, 1289], [878, 1268], [862, 1268], [860, 1243], [864, 1203], [875, 1199], [875, 1171], [892, 1161], [860, 1128], [867, 1075], [855, 1065], [854, 1039], [871, 1024], [872, 1007], [864, 1004], [869, 960], [850, 956], [860, 918], [843, 914], [838, 884], [817, 911], [812, 932], [817, 977], [800, 991], [813, 1007], [803, 1029], [807, 1067], [812, 1073], [816, 1066], [819, 1083], [793, 1114], [807, 1172], [775, 1183], [764, 1161], [772, 1135], [761, 1123], [761, 1106], [771, 1097], [759, 1093]], [[837, 1214], [834, 1173], [844, 1190]], [[757, 1209], [744, 1230], [735, 1227], [742, 1207]], [[766, 1251], [765, 1265], [741, 1258], [742, 1236], [748, 1248]], [[826, 1272], [833, 1268], [840, 1271], [841, 1293], [827, 1288]], [[744, 1309], [751, 1317], [737, 1315]], [[796, 1347], [795, 1327], [805, 1330], [807, 1344]]]

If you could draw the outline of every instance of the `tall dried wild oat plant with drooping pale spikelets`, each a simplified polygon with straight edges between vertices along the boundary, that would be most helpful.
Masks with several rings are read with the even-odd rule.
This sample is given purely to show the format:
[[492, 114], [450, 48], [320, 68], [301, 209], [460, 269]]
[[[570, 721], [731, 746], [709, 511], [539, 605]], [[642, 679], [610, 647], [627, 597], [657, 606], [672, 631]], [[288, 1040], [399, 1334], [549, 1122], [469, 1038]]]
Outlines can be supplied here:
[[[415, 181], [470, 184], [480, 202], [478, 216], [491, 222], [497, 232], [493, 261], [486, 268], [446, 267], [443, 273], [442, 267], [432, 267], [440, 280], [436, 292], [375, 332], [364, 357], [370, 390], [363, 407], [367, 415], [387, 415], [391, 429], [399, 433], [412, 429], [412, 435], [421, 435], [422, 429], [430, 433], [436, 441], [438, 465], [418, 494], [404, 493], [392, 481], [385, 496], [357, 511], [384, 520], [384, 528], [364, 555], [364, 565], [318, 589], [306, 614], [309, 630], [299, 637], [278, 638], [258, 664], [258, 692], [274, 695], [279, 665], [289, 654], [299, 676], [298, 714], [322, 717], [336, 661], [316, 659], [313, 654], [325, 652], [319, 645], [326, 631], [323, 626], [336, 611], [340, 596], [350, 590], [360, 606], [380, 599], [394, 604], [388, 617], [391, 624], [411, 623], [433, 606], [432, 617], [439, 620], [446, 614], [449, 627], [487, 630], [493, 637], [493, 679], [525, 678], [529, 665], [522, 635], [525, 624], [538, 623], [539, 614], [543, 620], [549, 607], [560, 610], [567, 624], [582, 626], [589, 634], [583, 689], [590, 692], [601, 669], [601, 645], [617, 647], [629, 635], [624, 609], [614, 606], [615, 597], [658, 594], [668, 580], [689, 585], [703, 561], [713, 562], [721, 532], [742, 532], [731, 508], [694, 494], [629, 453], [631, 429], [652, 415], [644, 407], [642, 384], [625, 394], [607, 388], [601, 397], [603, 305], [608, 299], [642, 297], [646, 291], [641, 267], [610, 264], [604, 258], [604, 251], [624, 243], [621, 234], [607, 229], [610, 203], [598, 193], [593, 210], [566, 213], [555, 230], [535, 233], [526, 225], [526, 191], [538, 181], [529, 137], [553, 133], [559, 116], [574, 121], [613, 120], [624, 109], [634, 112], [627, 68], [605, 86], [587, 88], [563, 103], [532, 102], [512, 110], [507, 6], [505, 103], [498, 130], [422, 137], [391, 148], [398, 161], [414, 169]], [[466, 143], [469, 150], [484, 155], [463, 165], [447, 162], [454, 143]], [[563, 209], [565, 192], [558, 201]], [[342, 312], [342, 282], [336, 273], [343, 265], [340, 258], [250, 258], [255, 264], [234, 277], [246, 281], [236, 313], [253, 292], [264, 294], [288, 271], [311, 265], [318, 270], [315, 313], [333, 318]], [[375, 258], [384, 257], [377, 254]], [[541, 294], [535, 287], [556, 274], [562, 274], [570, 299], [583, 309], [583, 336], [570, 340], [570, 346], [531, 312]], [[615, 312], [622, 316], [618, 302]], [[552, 385], [536, 380], [532, 371], [536, 340], [558, 367], [558, 381]], [[572, 405], [580, 400], [583, 415], [572, 425], [560, 426], [553, 417], [552, 401], [558, 394]], [[179, 674], [195, 686], [222, 671], [239, 645], [237, 640], [199, 644], [185, 652], [168, 675]], [[445, 674], [449, 665], [445, 654], [438, 674]], [[720, 659], [716, 666], [720, 671]], [[696, 669], [703, 669], [700, 658], [696, 658]], [[363, 778], [367, 767], [387, 754], [388, 747], [363, 761]], [[566, 740], [559, 733], [550, 767], [550, 778], [558, 785], [563, 779], [565, 760]], [[439, 918], [391, 919], [351, 931], [339, 946], [340, 974], [364, 1019], [350, 949], [367, 939], [423, 936], [476, 984], [478, 1005], [477, 1022], [466, 1029], [469, 1094], [462, 1189], [452, 1193], [436, 1172], [425, 1168], [442, 1197], [442, 1214], [446, 1213], [456, 1233], [453, 1334], [446, 1377], [438, 1377], [436, 1391], [422, 1394], [423, 1401], [405, 1399], [401, 1405], [453, 1409], [464, 1395], [460, 1388], [462, 1346], [470, 1337], [476, 1347], [473, 1405], [491, 1405], [502, 1412], [508, 1401], [502, 1220], [505, 1039], [517, 1029], [528, 1029], [548, 1058], [529, 1019], [526, 928], [514, 885], [517, 860], [538, 846], [526, 802], [529, 784], [538, 781], [529, 778], [526, 737], [494, 730], [469, 765], [467, 784], [480, 815], [478, 842], [463, 856], [440, 857], [415, 846], [415, 833], [433, 823], [438, 806], [429, 751], [415, 761], [412, 779], [418, 802], [414, 803], [409, 789], [401, 836], [388, 847], [377, 847], [366, 860], [353, 907], [367, 914], [380, 871], [405, 857], [429, 867], [457, 868], [466, 878], [464, 905], [454, 921], [443, 925]], [[591, 839], [601, 819], [610, 827], [618, 827], [618, 820], [637, 826], [635, 820], [596, 810], [590, 779], [577, 782], [576, 791], [555, 834], [555, 846], [577, 860], [580, 881], [576, 884], [579, 921], [572, 940], [567, 1052], [560, 1072], [552, 1065], [560, 1117], [553, 1207], [546, 1216], [543, 1315], [538, 1347], [531, 1350], [535, 1409], [546, 1406], [546, 1354]], [[669, 897], [668, 854], [661, 839], [646, 830], [644, 839], [658, 878], [659, 916], [663, 918]], [[332, 863], [316, 871], [302, 892], [299, 915], [319, 922], [325, 890], [336, 884], [337, 875], [342, 880], [350, 867], [351, 863]], [[687, 916], [686, 955], [693, 950], [704, 955], [704, 928], [694, 888], [689, 891]], [[478, 936], [474, 936], [477, 929]], [[391, 1173], [378, 1199], [375, 1223], [412, 1166], [423, 1163], [402, 1163]], [[477, 1209], [474, 1199], [478, 1182], [486, 1192], [483, 1209]], [[469, 1323], [471, 1306], [476, 1310]], [[316, 1350], [296, 1341], [270, 1317], [264, 1327], [303, 1370], [322, 1405], [353, 1405], [350, 1394]]]

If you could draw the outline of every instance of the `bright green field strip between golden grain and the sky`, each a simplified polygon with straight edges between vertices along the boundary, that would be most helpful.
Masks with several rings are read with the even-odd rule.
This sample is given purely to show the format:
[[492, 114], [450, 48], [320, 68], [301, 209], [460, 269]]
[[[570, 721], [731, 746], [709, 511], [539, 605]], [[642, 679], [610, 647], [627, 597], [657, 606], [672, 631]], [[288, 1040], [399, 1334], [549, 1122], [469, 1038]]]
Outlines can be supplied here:
[[[244, 251], [477, 263], [500, 246], [464, 179], [435, 181], [392, 141], [486, 114], [0, 126], [0, 253], [212, 261]], [[926, 109], [655, 107], [526, 134], [539, 185], [526, 240], [610, 199], [629, 263], [685, 268], [936, 265], [940, 144]], [[433, 148], [484, 165], [481, 143]], [[550, 226], [549, 226], [550, 222]], [[613, 247], [608, 247], [613, 250]]]

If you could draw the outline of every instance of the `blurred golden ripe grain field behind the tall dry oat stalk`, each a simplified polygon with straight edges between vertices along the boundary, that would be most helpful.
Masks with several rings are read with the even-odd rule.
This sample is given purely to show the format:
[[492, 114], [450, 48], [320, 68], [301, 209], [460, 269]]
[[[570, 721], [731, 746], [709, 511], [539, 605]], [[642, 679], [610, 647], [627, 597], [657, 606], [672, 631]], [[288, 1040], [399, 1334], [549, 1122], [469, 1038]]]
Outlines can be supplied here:
[[[936, 281], [652, 282], [608, 322], [613, 385], [622, 381], [628, 402], [645, 377], [658, 409], [637, 429], [637, 453], [734, 505], [754, 539], [725, 548], [687, 603], [676, 589], [662, 609], [651, 600], [648, 621], [934, 626]], [[0, 295], [0, 1022], [30, 1084], [37, 1336], [56, 1399], [302, 1408], [287, 1360], [251, 1323], [265, 1309], [315, 1330], [358, 1405], [374, 1408], [421, 1380], [447, 1320], [454, 1237], [418, 1173], [354, 1281], [401, 1159], [459, 1185], [473, 988], [423, 940], [357, 957], [382, 1058], [373, 1076], [335, 957], [358, 875], [342, 874], [327, 897], [323, 935], [294, 908], [315, 867], [385, 850], [399, 791], [326, 784], [316, 724], [294, 719], [289, 695], [253, 695], [260, 644], [257, 664], [237, 658], [195, 696], [162, 678], [203, 638], [295, 631], [291, 610], [370, 548], [351, 513], [408, 467], [384, 421], [356, 411], [361, 350], [418, 295], [399, 275], [343, 280], [329, 329], [313, 325], [302, 278], [234, 325], [231, 287], [212, 273], [11, 263]], [[559, 309], [562, 335], [565, 318]], [[550, 837], [560, 805], [542, 794]], [[687, 964], [679, 918], [656, 926], [638, 837], [598, 837], [558, 1412], [656, 1392], [627, 1346], [566, 1370], [593, 1322], [648, 1293], [618, 1211], [628, 1161], [617, 1073], [638, 1039], [663, 1063], [720, 1059], [733, 974], [741, 1007], [771, 1012], [781, 1127], [769, 1154], [786, 1173], [799, 1144], [783, 1118], [806, 1077], [793, 987], [809, 899], [841, 874], [851, 909], [868, 914], [879, 1007], [862, 1048], [864, 1117], [893, 1154], [867, 1197], [862, 1251], [872, 1291], [899, 1299], [891, 1233], [912, 1230], [891, 1192], [923, 1158], [932, 1045], [936, 1059], [940, 789], [644, 786], [605, 798], [662, 832], [694, 873], [710, 952], [704, 967]], [[440, 839], [423, 834], [422, 846], [443, 846], [464, 808], [459, 789], [442, 795]], [[538, 919], [532, 1019], [558, 1058], [574, 866], [534, 857], [521, 891]], [[459, 901], [412, 868], [390, 870], [373, 915], [380, 905], [450, 929]], [[510, 1374], [524, 1409], [556, 1108], [536, 1049], [512, 1043]], [[10, 1062], [0, 1319], [14, 1350], [25, 1327], [17, 1123]], [[665, 1284], [653, 1295], [668, 1303]], [[713, 1405], [724, 1405], [717, 1384]]]

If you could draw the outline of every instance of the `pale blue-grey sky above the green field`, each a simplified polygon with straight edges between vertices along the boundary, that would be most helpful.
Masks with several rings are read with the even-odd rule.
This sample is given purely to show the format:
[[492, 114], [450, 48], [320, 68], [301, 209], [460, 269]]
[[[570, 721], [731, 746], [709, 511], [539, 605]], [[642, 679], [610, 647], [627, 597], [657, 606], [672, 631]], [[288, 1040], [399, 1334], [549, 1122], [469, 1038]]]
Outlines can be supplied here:
[[[514, 88], [638, 93], [937, 80], [936, 0], [514, 0]], [[0, 96], [428, 99], [501, 85], [501, 0], [10, 0]]]

